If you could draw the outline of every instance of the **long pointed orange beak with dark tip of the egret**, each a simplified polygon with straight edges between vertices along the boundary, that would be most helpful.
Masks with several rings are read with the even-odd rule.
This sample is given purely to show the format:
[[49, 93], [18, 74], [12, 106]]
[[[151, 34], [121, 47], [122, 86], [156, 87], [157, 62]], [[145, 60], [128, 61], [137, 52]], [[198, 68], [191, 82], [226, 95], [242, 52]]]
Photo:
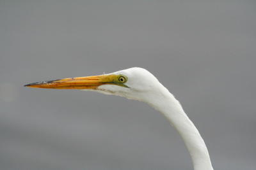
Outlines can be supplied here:
[[25, 87], [44, 89], [97, 89], [100, 85], [113, 84], [116, 75], [99, 75], [60, 80], [40, 81], [24, 85]]

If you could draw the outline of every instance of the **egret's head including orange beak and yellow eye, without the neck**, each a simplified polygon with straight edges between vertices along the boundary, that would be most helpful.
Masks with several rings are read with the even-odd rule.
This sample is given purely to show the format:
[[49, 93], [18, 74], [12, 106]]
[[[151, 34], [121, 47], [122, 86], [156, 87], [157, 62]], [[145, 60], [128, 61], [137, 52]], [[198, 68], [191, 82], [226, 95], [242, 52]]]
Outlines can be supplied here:
[[40, 81], [25, 86], [44, 89], [92, 90], [103, 94], [145, 101], [152, 92], [157, 92], [159, 85], [161, 83], [149, 71], [140, 67], [132, 67], [115, 73]]

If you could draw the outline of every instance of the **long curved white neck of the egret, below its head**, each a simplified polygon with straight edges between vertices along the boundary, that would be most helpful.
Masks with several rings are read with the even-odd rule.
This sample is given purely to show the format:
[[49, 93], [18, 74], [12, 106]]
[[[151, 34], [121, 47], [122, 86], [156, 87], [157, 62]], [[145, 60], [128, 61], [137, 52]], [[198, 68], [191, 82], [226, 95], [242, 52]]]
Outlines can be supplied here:
[[[151, 97], [150, 97], [151, 98]], [[163, 113], [184, 140], [195, 170], [213, 170], [204, 139], [188, 118], [179, 101], [163, 87], [146, 103]]]

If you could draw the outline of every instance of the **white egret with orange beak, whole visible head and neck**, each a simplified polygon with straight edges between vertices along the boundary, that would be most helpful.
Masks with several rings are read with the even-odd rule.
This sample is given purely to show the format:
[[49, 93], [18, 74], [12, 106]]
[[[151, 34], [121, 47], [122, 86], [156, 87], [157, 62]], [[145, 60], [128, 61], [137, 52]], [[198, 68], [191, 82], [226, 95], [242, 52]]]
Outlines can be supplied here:
[[99, 76], [40, 81], [25, 86], [46, 89], [93, 90], [143, 101], [163, 113], [179, 132], [188, 148], [195, 170], [213, 170], [204, 139], [195, 125], [188, 118], [179, 101], [146, 69], [132, 67]]

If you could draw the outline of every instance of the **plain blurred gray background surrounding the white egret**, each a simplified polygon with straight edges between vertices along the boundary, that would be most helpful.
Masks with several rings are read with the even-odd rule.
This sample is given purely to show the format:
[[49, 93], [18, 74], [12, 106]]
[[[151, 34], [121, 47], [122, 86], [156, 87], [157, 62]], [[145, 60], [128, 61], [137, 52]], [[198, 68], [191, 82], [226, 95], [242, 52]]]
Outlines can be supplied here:
[[145, 67], [180, 100], [214, 169], [256, 168], [255, 1], [0, 0], [0, 169], [192, 169], [137, 101], [22, 87]]

